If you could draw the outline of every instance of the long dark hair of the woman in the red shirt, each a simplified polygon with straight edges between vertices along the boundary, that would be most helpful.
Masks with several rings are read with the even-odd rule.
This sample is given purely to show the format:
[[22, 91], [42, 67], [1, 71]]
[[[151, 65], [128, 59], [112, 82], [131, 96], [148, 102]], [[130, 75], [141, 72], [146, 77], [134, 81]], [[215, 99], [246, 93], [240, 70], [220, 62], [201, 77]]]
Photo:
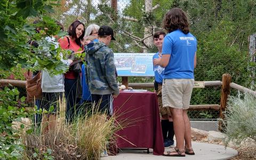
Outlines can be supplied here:
[[76, 44], [81, 46], [81, 40], [83, 40], [83, 38], [84, 38], [85, 29], [84, 29], [82, 35], [79, 38], [77, 38], [76, 37], [76, 28], [79, 25], [83, 25], [84, 26], [84, 23], [82, 23], [79, 20], [75, 20], [73, 23], [71, 23], [71, 25], [68, 27], [68, 35], [71, 36], [72, 38], [75, 38]]

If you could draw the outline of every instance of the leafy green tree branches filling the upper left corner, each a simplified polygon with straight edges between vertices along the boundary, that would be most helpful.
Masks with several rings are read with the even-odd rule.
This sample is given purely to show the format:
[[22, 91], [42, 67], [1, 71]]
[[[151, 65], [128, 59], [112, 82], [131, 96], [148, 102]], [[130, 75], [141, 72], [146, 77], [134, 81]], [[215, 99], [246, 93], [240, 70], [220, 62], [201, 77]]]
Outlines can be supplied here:
[[[59, 1], [26, 1], [2, 0], [0, 5], [0, 69], [10, 69], [21, 64], [22, 68], [29, 68], [38, 61], [40, 69], [49, 70], [50, 73], [59, 74], [67, 70], [60, 59], [60, 49], [54, 49], [54, 44], [45, 40], [46, 36], [59, 35], [60, 28], [55, 21], [50, 18], [49, 13], [53, 12], [52, 5], [57, 5]], [[28, 19], [38, 17], [39, 23], [29, 25]], [[39, 33], [35, 29], [41, 28]], [[28, 45], [28, 39], [36, 40], [38, 49], [33, 49]], [[46, 56], [47, 55], [47, 56]], [[57, 71], [52, 70], [57, 68]]]

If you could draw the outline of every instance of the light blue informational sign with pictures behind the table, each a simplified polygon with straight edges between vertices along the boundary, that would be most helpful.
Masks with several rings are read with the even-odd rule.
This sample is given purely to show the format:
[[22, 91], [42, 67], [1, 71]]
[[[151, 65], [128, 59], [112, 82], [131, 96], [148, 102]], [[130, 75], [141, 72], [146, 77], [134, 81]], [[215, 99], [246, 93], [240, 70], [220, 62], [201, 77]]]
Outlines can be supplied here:
[[118, 76], [154, 77], [154, 54], [155, 53], [114, 53]]

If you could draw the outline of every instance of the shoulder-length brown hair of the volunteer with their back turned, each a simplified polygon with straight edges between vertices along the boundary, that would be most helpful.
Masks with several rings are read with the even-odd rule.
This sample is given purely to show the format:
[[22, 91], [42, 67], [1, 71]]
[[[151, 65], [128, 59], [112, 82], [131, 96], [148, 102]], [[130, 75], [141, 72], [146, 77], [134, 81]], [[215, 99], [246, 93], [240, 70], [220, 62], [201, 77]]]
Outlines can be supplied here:
[[183, 33], [189, 33], [189, 25], [186, 13], [178, 8], [169, 10], [163, 20], [163, 28], [171, 33], [174, 30], [180, 29]]

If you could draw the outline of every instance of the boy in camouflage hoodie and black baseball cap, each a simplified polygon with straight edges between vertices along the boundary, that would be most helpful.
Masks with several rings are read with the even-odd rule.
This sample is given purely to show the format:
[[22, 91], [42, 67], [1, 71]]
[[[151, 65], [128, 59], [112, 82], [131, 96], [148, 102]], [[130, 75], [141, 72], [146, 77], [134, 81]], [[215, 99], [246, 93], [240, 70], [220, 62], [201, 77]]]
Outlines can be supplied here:
[[107, 47], [115, 40], [113, 29], [101, 26], [98, 31], [99, 42], [91, 42], [85, 46], [86, 81], [92, 95], [92, 102], [99, 105], [99, 110], [113, 113], [113, 98], [119, 94], [116, 82], [114, 53]]

